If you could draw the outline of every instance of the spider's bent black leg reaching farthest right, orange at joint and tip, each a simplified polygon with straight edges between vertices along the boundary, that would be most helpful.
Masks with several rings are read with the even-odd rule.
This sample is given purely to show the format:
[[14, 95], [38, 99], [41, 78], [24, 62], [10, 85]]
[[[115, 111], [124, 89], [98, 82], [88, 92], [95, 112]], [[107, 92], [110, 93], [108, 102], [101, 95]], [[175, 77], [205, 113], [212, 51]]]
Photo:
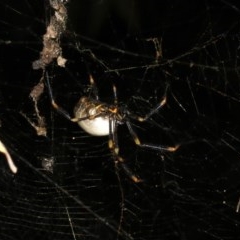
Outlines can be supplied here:
[[127, 127], [128, 127], [128, 130], [135, 142], [135, 144], [139, 147], [142, 147], [142, 148], [149, 148], [149, 149], [152, 149], [152, 150], [158, 150], [158, 151], [165, 151], [165, 152], [175, 152], [178, 148], [179, 148], [179, 145], [176, 145], [176, 146], [162, 146], [162, 145], [154, 145], [154, 144], [148, 144], [148, 143], [141, 143], [140, 139], [138, 138], [137, 134], [134, 132], [132, 126], [131, 126], [131, 123], [129, 121], [126, 121], [126, 124], [127, 124]]

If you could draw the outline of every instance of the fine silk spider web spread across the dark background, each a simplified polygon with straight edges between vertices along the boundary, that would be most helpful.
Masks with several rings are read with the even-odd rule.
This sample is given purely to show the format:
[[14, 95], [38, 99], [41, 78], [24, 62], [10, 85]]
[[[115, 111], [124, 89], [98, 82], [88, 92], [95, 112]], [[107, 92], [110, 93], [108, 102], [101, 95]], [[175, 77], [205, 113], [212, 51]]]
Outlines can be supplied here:
[[[159, 5], [160, 4], [160, 5]], [[239, 14], [233, 1], [70, 1], [61, 36], [65, 67], [47, 66], [57, 103], [72, 114], [91, 94], [144, 116], [125, 125], [116, 167], [108, 138], [56, 113], [32, 63], [54, 11], [48, 1], [0, 2], [1, 239], [239, 239]], [[41, 120], [41, 121], [40, 121]], [[43, 125], [41, 125], [43, 124]], [[43, 127], [46, 135], [38, 134]]]

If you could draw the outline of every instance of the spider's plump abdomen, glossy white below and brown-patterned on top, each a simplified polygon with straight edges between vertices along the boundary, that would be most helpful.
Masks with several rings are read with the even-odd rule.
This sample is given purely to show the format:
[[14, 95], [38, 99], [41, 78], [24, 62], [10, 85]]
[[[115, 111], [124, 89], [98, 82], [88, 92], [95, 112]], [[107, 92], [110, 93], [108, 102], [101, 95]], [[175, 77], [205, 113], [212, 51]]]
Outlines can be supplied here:
[[102, 111], [101, 102], [82, 97], [74, 108], [74, 115], [75, 118], [83, 118], [77, 123], [90, 135], [109, 135], [109, 117]]

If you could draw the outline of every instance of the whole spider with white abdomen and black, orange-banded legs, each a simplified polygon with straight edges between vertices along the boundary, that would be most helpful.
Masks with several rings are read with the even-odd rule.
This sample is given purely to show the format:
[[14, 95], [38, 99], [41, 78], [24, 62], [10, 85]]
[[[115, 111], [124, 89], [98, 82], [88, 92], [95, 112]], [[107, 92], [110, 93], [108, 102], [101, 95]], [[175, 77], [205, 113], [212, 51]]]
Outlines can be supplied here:
[[133, 173], [133, 171], [126, 165], [125, 160], [119, 155], [117, 128], [118, 125], [126, 124], [135, 144], [139, 147], [168, 152], [176, 151], [179, 145], [170, 147], [141, 143], [130, 122], [131, 119], [138, 122], [144, 122], [153, 114], [155, 114], [160, 108], [162, 108], [166, 104], [167, 87], [160, 103], [157, 104], [144, 117], [141, 117], [131, 113], [126, 106], [122, 106], [118, 103], [117, 89], [114, 84], [113, 103], [107, 104], [99, 100], [98, 89], [91, 74], [89, 75], [89, 82], [93, 96], [82, 96], [74, 107], [74, 117], [71, 117], [70, 114], [61, 106], [59, 106], [54, 100], [52, 88], [49, 82], [49, 76], [46, 73], [46, 85], [48, 88], [51, 105], [63, 117], [71, 122], [78, 123], [78, 125], [88, 134], [92, 136], [109, 136], [108, 147], [113, 155], [115, 164], [119, 164], [127, 176], [129, 176], [130, 179], [132, 179], [135, 183], [141, 182], [142, 179]]

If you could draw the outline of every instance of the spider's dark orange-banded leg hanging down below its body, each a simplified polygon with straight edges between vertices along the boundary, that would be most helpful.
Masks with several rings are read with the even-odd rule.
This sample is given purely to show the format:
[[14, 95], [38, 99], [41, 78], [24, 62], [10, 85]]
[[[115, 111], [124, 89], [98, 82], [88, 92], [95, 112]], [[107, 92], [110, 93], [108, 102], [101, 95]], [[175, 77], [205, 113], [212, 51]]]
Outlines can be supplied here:
[[125, 160], [119, 155], [119, 146], [117, 139], [117, 126], [115, 124], [115, 119], [109, 119], [109, 141], [108, 147], [111, 150], [115, 164], [120, 165], [126, 175], [131, 178], [135, 183], [142, 182], [142, 180], [137, 177], [133, 171], [125, 164]]

